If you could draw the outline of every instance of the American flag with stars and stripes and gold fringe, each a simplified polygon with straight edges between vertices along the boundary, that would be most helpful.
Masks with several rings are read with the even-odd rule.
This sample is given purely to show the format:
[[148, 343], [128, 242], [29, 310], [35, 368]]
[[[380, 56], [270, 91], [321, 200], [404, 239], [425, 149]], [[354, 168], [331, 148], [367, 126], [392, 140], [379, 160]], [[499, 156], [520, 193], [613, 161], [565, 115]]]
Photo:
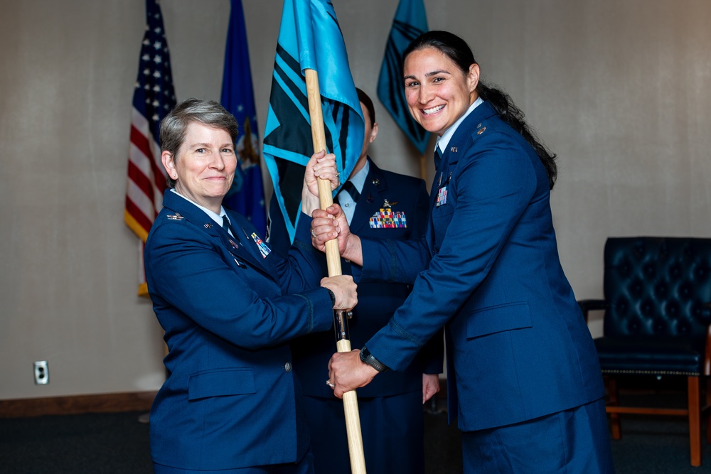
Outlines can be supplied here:
[[146, 0], [146, 33], [141, 44], [131, 114], [124, 221], [139, 237], [139, 294], [147, 294], [143, 244], [163, 207], [166, 172], [161, 164], [161, 119], [176, 104], [171, 58], [157, 0]]

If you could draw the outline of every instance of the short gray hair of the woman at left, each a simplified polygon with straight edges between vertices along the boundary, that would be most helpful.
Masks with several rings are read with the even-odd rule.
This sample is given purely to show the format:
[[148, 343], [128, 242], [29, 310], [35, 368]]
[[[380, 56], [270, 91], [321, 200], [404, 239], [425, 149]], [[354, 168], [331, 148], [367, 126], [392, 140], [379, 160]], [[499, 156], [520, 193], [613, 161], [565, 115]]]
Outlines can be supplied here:
[[[185, 141], [191, 122], [213, 126], [224, 130], [232, 138], [232, 146], [237, 146], [237, 120], [225, 107], [214, 100], [186, 99], [173, 107], [161, 121], [161, 152], [169, 151], [173, 161], [178, 159], [178, 150]], [[176, 182], [168, 177], [168, 187], [175, 188]]]

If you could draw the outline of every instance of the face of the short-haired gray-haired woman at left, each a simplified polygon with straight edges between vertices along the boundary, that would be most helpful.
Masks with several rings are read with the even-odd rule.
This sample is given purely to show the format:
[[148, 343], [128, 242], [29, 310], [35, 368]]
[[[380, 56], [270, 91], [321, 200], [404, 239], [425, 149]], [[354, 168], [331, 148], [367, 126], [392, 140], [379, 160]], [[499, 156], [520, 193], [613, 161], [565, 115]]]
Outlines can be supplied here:
[[161, 158], [178, 193], [220, 213], [237, 168], [235, 146], [227, 131], [190, 122], [176, 156], [164, 151]]

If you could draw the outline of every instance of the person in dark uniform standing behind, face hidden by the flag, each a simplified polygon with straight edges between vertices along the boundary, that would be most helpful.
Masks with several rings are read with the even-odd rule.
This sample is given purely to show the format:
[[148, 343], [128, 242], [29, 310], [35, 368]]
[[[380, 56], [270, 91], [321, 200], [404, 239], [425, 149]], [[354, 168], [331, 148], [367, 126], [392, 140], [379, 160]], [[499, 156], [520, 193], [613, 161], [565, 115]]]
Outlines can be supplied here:
[[[424, 235], [429, 195], [424, 181], [384, 171], [368, 156], [378, 135], [373, 101], [358, 89], [365, 118], [365, 139], [351, 176], [336, 195], [358, 235], [376, 239], [415, 240]], [[269, 209], [269, 244], [286, 252], [289, 237], [279, 206]], [[351, 263], [341, 260], [343, 274]], [[324, 274], [326, 259], [324, 258]], [[348, 322], [351, 345], [361, 347], [390, 320], [412, 289], [408, 284], [360, 284], [358, 306]], [[294, 372], [306, 397], [316, 474], [351, 472], [343, 402], [333, 397], [324, 381], [335, 348], [331, 332], [314, 333], [292, 341]], [[390, 371], [358, 390], [360, 430], [368, 474], [423, 473], [422, 404], [439, 392], [443, 360], [442, 333], [435, 335], [419, 356], [402, 371]]]

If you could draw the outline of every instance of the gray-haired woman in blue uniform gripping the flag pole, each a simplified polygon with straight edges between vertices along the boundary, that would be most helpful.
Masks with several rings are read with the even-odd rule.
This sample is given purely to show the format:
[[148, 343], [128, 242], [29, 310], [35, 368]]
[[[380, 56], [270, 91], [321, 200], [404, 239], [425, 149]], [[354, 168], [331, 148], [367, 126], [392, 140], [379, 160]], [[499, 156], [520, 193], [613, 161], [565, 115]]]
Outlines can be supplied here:
[[[151, 409], [156, 474], [311, 473], [301, 390], [288, 341], [328, 330], [353, 308], [351, 276], [321, 280], [306, 216], [288, 259], [225, 209], [237, 122], [216, 102], [188, 99], [161, 122], [169, 176], [145, 248], [146, 280], [165, 329], [168, 377]], [[335, 157], [306, 166], [302, 210], [319, 205], [316, 178], [338, 185]], [[321, 280], [321, 286], [319, 286]]]

